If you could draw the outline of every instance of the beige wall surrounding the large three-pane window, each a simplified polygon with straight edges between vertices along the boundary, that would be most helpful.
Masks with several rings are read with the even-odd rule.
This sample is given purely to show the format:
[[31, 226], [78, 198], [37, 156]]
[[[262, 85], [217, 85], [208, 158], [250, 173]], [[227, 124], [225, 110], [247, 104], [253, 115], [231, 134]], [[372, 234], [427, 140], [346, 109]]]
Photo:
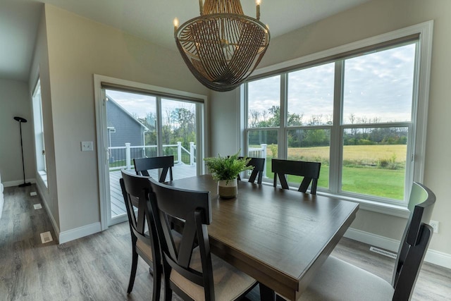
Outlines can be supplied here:
[[[451, 128], [450, 75], [451, 66], [451, 1], [449, 0], [373, 0], [318, 23], [300, 28], [271, 40], [260, 68], [297, 59], [307, 54], [331, 49], [350, 42], [399, 30], [409, 25], [434, 20], [433, 52], [431, 66], [431, 93], [428, 109], [426, 169], [424, 184], [436, 194], [433, 219], [440, 221], [440, 232], [434, 233], [430, 249], [451, 256], [451, 202], [448, 189], [451, 180]], [[270, 25], [271, 28], [271, 25]], [[225, 122], [236, 116], [223, 110], [227, 104], [235, 106], [235, 99], [211, 99], [212, 120]], [[227, 104], [226, 104], [227, 102]], [[221, 114], [219, 114], [221, 112]], [[221, 118], [221, 121], [217, 121]], [[212, 128], [212, 149], [223, 142], [218, 137], [222, 128]], [[233, 130], [233, 129], [232, 129]], [[400, 240], [406, 219], [361, 210], [352, 228]], [[449, 260], [449, 259], [448, 259]]]

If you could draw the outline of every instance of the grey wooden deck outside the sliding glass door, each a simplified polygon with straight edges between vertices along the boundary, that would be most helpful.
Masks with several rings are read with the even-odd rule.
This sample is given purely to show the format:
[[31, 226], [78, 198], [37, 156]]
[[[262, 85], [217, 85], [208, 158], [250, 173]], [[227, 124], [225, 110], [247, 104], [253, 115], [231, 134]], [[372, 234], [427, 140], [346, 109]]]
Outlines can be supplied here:
[[[174, 180], [196, 176], [196, 166], [187, 164], [175, 164], [172, 168]], [[155, 169], [149, 172], [152, 178], [159, 178], [158, 171]], [[111, 217], [127, 213], [122, 196], [119, 179], [121, 171], [110, 171], [110, 197], [111, 197]], [[167, 176], [169, 180], [169, 175]]]

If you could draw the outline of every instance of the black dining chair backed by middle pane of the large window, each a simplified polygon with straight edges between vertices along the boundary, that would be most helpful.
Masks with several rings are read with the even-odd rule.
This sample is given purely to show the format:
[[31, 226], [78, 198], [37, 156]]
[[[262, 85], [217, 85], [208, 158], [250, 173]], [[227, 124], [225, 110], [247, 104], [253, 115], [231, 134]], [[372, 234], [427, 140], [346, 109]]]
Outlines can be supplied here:
[[301, 185], [299, 185], [298, 191], [307, 192], [311, 183], [310, 193], [316, 195], [321, 162], [272, 159], [271, 163], [271, 168], [274, 173], [274, 187], [277, 187], [278, 178], [283, 189], [290, 189], [288, 188], [287, 175], [302, 176], [304, 178], [302, 179]]

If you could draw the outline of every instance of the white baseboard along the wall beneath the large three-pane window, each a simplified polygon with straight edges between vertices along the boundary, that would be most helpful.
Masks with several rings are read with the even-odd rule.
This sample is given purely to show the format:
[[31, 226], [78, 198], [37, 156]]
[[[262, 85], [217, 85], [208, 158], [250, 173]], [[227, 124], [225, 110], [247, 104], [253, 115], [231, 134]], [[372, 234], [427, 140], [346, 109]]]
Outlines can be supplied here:
[[[353, 228], [347, 229], [344, 236], [345, 238], [364, 242], [374, 247], [381, 247], [385, 250], [395, 253], [397, 253], [398, 247], [400, 245], [399, 240], [385, 238], [381, 235], [376, 235]], [[426, 257], [424, 257], [424, 261], [431, 264], [436, 264], [438, 266], [443, 266], [447, 269], [451, 269], [451, 254], [428, 249], [428, 251], [426, 252]]]

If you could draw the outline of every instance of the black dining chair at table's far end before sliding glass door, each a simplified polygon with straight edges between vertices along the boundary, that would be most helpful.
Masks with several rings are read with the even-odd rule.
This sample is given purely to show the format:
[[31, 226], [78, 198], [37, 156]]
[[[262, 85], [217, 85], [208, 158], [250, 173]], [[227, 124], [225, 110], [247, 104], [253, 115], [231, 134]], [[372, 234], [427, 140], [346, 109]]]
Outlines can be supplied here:
[[149, 170], [162, 168], [159, 182], [166, 182], [169, 171], [169, 179], [173, 180], [172, 168], [174, 166], [174, 156], [154, 156], [152, 158], [133, 159], [135, 172], [137, 175], [149, 176]]

